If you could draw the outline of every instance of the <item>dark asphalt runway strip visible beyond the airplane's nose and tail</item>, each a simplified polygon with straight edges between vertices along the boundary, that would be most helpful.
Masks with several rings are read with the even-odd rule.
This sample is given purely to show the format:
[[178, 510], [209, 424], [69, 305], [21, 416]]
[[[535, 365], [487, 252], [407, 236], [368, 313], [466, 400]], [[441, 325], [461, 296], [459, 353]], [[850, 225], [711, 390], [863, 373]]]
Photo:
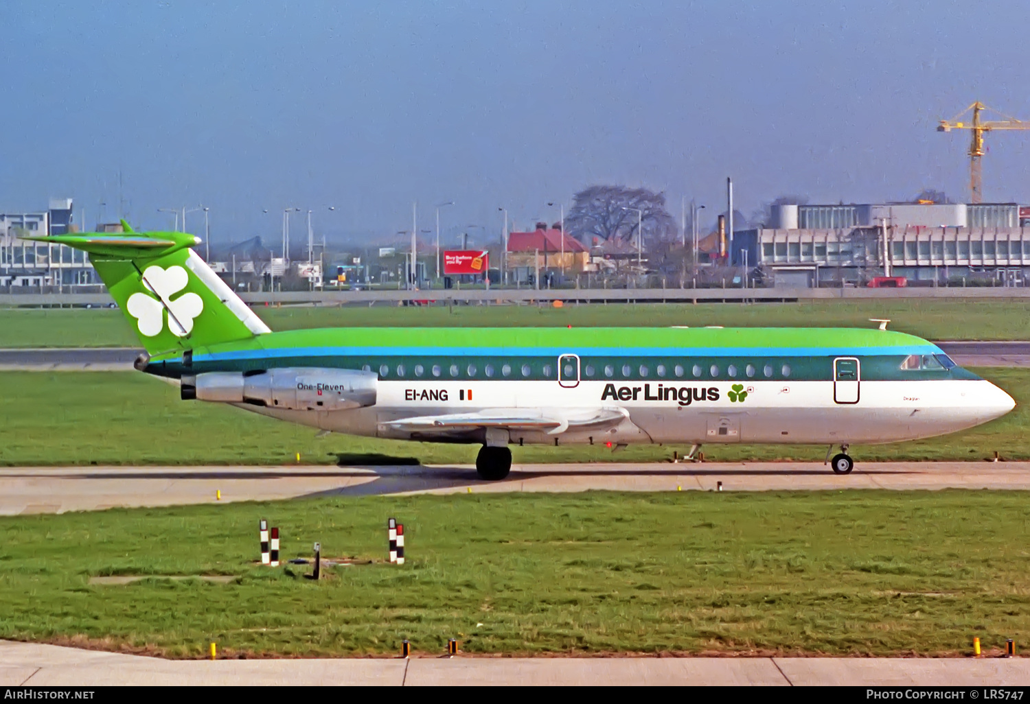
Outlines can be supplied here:
[[[1030, 341], [937, 343], [962, 366], [1030, 366]], [[0, 372], [131, 372], [132, 347], [0, 349]]]

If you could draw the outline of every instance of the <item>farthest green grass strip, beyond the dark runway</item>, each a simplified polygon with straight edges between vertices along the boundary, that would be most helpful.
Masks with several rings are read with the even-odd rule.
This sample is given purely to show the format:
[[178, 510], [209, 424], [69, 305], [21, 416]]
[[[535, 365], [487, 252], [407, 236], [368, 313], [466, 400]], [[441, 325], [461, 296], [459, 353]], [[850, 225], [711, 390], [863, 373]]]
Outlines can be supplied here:
[[[1030, 340], [1030, 315], [1020, 301], [827, 301], [798, 304], [613, 304], [562, 309], [537, 306], [397, 306], [265, 308], [256, 313], [274, 330], [332, 326], [725, 325], [868, 327], [891, 319], [891, 329], [928, 340]], [[0, 347], [137, 347], [132, 327], [115, 310], [0, 309]]]

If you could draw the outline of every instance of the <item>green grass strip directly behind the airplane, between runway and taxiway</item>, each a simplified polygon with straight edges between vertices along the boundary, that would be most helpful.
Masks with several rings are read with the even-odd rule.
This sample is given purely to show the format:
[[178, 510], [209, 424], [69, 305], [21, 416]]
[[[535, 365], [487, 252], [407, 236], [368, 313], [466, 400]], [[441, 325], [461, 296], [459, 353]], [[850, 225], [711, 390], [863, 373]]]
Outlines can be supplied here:
[[[1030, 369], [980, 374], [1008, 391], [1016, 410], [996, 421], [943, 437], [853, 447], [857, 461], [978, 460], [995, 451], [1030, 459]], [[407, 443], [316, 430], [232, 407], [182, 401], [178, 388], [138, 373], [0, 373], [0, 466], [62, 464], [367, 464], [418, 460], [475, 461], [476, 446]], [[518, 462], [660, 461], [686, 446], [513, 448]], [[825, 447], [708, 445], [707, 459], [822, 460]]]

